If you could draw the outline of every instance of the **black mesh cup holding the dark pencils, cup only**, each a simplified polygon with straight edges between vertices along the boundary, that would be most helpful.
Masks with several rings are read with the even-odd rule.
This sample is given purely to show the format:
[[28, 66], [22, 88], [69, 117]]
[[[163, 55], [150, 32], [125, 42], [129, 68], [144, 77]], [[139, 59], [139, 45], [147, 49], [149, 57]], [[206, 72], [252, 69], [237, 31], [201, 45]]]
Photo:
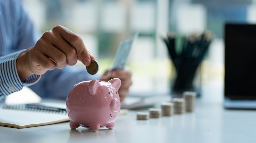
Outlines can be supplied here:
[[182, 97], [184, 91], [194, 91], [197, 97], [201, 96], [201, 60], [172, 60], [170, 78], [172, 97]]

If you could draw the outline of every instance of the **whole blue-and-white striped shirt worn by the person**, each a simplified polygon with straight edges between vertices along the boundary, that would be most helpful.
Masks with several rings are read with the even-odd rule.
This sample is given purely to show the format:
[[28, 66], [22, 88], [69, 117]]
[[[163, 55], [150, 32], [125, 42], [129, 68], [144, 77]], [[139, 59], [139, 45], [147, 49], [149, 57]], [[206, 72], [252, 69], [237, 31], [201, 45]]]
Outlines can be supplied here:
[[24, 49], [35, 45], [40, 35], [20, 0], [0, 0], [0, 100], [24, 86], [41, 97], [65, 99], [76, 83], [99, 78], [88, 74], [85, 68], [67, 66], [20, 81], [16, 59]]

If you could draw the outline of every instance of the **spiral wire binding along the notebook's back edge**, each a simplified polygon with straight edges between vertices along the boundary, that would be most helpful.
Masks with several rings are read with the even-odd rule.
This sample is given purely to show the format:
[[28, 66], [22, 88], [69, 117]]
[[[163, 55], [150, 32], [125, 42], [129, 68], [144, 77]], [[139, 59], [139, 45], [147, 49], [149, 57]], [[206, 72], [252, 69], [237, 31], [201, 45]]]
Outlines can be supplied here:
[[53, 114], [67, 114], [65, 109], [52, 108], [52, 107], [43, 107], [43, 106], [27, 106], [27, 105], [4, 105], [3, 109], [11, 110], [24, 110], [32, 112], [47, 112]]

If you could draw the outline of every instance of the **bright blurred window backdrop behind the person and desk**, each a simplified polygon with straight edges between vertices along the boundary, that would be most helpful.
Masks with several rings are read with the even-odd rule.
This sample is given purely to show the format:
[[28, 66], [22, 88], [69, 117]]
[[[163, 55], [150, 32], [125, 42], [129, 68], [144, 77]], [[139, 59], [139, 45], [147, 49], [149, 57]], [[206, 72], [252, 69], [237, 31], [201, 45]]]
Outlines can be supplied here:
[[62, 25], [81, 36], [100, 73], [111, 67], [119, 43], [139, 31], [127, 63], [133, 72], [130, 94], [139, 96], [170, 93], [173, 67], [163, 35], [208, 29], [215, 39], [202, 63], [200, 80], [203, 92], [216, 96], [202, 98], [222, 100], [224, 23], [256, 22], [255, 0], [23, 0], [23, 5], [42, 33]]

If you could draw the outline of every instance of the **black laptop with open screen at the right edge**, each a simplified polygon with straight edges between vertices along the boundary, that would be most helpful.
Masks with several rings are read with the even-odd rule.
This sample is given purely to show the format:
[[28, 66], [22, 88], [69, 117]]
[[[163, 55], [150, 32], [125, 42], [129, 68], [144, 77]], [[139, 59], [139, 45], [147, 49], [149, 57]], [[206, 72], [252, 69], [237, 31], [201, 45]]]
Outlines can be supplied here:
[[256, 109], [256, 24], [225, 24], [224, 107]]

